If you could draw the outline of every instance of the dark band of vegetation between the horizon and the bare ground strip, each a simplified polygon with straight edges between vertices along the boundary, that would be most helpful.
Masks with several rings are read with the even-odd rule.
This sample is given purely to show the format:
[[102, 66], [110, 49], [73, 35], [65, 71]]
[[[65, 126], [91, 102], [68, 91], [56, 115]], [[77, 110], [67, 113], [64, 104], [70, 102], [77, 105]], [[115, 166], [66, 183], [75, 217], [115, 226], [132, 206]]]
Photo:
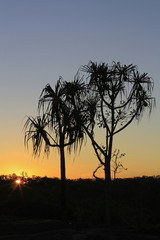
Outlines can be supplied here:
[[[117, 179], [112, 182], [113, 225], [147, 227], [160, 224], [160, 178]], [[16, 184], [0, 180], [0, 215], [61, 219], [60, 180], [28, 179]], [[104, 181], [67, 180], [67, 219], [80, 224], [103, 224]]]

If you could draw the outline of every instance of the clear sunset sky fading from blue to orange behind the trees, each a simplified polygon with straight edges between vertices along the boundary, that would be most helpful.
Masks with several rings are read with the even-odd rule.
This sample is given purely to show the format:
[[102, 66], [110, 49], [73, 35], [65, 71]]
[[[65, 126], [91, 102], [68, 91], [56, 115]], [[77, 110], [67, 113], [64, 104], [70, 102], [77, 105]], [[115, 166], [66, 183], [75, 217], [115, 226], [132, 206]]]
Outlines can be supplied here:
[[[47, 83], [72, 80], [89, 60], [132, 63], [154, 79], [151, 117], [117, 135], [114, 148], [126, 153], [119, 177], [160, 175], [159, 23], [159, 0], [0, 0], [0, 175], [59, 177], [56, 149], [48, 159], [25, 150], [25, 116], [37, 115]], [[92, 177], [98, 160], [89, 140], [66, 165], [68, 178]]]

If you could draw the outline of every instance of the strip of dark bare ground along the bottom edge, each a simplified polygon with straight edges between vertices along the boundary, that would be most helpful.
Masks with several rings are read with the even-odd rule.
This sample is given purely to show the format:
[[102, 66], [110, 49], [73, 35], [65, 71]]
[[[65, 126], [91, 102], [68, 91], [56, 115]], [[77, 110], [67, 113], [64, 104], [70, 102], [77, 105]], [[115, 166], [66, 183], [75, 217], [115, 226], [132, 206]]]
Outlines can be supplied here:
[[86, 226], [50, 219], [0, 216], [0, 240], [159, 240], [160, 226], [148, 229]]

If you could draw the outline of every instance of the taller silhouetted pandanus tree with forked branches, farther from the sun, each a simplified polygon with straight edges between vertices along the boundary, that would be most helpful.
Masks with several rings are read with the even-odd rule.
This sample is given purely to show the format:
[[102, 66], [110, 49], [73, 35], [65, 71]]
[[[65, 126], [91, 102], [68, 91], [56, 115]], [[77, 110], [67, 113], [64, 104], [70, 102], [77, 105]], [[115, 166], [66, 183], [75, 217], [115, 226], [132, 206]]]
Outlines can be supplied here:
[[[126, 129], [134, 120], [140, 120], [145, 110], [151, 113], [155, 104], [152, 97], [153, 80], [147, 73], [140, 74], [137, 67], [113, 62], [89, 62], [81, 68], [86, 79], [91, 99], [95, 95], [96, 114], [92, 129], [86, 128], [92, 146], [101, 165], [104, 166], [106, 192], [106, 223], [110, 224], [110, 183], [113, 140], [116, 134]], [[95, 102], [94, 102], [95, 104]], [[96, 139], [95, 126], [103, 128], [102, 142]]]

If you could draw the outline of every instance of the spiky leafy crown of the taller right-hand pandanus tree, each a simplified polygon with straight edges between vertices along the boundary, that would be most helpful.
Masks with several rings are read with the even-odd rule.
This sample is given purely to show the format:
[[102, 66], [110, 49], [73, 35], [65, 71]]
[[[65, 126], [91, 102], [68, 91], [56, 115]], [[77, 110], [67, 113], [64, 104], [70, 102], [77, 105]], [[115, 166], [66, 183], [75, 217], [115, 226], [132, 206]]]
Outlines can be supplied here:
[[146, 108], [151, 112], [155, 103], [151, 96], [153, 81], [148, 74], [140, 74], [136, 66], [89, 62], [81, 70], [87, 73], [88, 84], [99, 97], [99, 127], [116, 134], [133, 119], [140, 119]]

